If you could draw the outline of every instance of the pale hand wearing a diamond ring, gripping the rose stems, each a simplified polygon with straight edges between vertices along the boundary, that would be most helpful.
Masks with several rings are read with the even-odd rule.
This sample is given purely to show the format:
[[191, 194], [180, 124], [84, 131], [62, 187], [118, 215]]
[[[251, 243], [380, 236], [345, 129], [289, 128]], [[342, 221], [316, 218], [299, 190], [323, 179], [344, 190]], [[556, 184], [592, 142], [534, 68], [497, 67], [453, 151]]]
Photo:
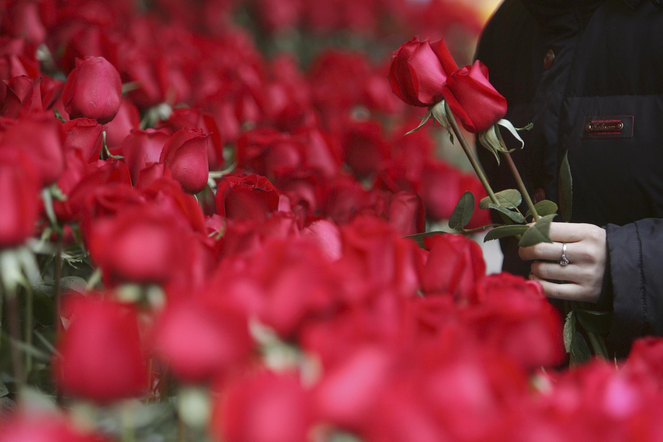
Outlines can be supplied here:
[[[522, 260], [534, 260], [530, 279], [540, 282], [546, 296], [550, 298], [597, 302], [605, 274], [605, 230], [593, 224], [551, 223], [550, 239], [554, 243], [540, 243], [518, 249]], [[566, 257], [569, 260], [566, 266], [559, 264], [562, 260], [562, 243], [566, 243]], [[567, 281], [568, 284], [546, 280]]]

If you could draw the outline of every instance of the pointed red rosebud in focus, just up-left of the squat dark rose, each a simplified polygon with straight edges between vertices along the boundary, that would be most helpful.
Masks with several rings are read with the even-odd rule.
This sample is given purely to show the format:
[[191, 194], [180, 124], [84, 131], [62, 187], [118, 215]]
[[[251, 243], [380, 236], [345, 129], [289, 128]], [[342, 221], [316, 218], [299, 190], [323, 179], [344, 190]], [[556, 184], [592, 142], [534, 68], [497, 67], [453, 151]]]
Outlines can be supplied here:
[[182, 129], [164, 144], [159, 162], [168, 164], [172, 178], [182, 184], [184, 192], [195, 195], [207, 186], [209, 141], [210, 136], [200, 129]]

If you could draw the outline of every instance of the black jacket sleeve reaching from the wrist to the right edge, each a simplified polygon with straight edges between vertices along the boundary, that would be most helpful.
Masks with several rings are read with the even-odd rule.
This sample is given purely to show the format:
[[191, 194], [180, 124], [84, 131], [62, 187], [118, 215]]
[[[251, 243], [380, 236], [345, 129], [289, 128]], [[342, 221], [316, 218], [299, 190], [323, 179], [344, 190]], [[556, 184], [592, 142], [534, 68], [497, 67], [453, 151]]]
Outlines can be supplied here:
[[613, 322], [611, 353], [625, 357], [633, 340], [663, 335], [663, 219], [606, 226]]

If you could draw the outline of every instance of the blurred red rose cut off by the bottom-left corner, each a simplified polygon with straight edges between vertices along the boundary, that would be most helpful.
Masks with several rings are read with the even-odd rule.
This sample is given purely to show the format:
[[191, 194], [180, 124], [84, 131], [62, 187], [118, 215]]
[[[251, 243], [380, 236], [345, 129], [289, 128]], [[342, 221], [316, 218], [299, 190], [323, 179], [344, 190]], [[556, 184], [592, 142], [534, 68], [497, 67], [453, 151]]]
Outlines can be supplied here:
[[0, 419], [0, 442], [102, 442], [96, 435], [86, 435], [74, 429], [58, 415], [19, 412]]

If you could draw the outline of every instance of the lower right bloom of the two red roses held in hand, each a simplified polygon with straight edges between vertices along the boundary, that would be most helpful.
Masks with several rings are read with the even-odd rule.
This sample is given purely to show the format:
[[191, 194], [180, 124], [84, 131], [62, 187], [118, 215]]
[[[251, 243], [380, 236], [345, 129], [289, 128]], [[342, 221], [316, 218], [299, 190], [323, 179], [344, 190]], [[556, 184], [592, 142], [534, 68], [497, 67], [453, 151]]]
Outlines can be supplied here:
[[485, 131], [507, 113], [507, 99], [488, 81], [488, 68], [479, 60], [453, 72], [443, 93], [453, 115], [471, 133]]

